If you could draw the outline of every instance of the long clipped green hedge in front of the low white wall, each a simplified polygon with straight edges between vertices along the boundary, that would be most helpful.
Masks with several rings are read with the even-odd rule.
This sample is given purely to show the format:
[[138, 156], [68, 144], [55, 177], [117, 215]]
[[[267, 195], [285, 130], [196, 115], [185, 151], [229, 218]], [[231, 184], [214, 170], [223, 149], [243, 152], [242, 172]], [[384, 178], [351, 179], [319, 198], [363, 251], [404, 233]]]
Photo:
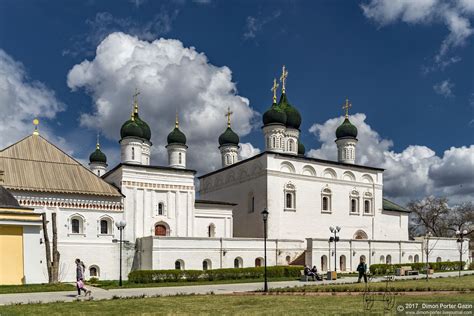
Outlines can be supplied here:
[[[302, 266], [267, 267], [269, 278], [299, 277]], [[215, 270], [137, 270], [128, 274], [131, 283], [157, 283], [177, 281], [213, 281], [263, 278], [264, 267], [257, 268], [230, 268]]]

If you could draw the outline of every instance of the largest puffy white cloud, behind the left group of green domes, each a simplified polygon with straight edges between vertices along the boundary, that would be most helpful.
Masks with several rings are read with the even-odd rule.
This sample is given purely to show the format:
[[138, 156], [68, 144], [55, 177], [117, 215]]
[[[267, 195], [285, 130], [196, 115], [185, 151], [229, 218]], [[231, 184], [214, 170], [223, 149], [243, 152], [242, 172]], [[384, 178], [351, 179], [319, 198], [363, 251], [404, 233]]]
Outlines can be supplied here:
[[204, 53], [179, 40], [148, 42], [120, 32], [110, 34], [93, 60], [70, 70], [67, 82], [93, 100], [94, 111], [84, 113], [81, 124], [116, 140], [130, 116], [137, 87], [140, 115], [152, 130], [154, 164], [167, 163], [166, 136], [178, 110], [180, 129], [188, 139], [188, 166], [200, 172], [220, 165], [217, 140], [226, 128], [228, 107], [234, 113], [232, 128], [241, 137], [251, 131], [258, 115], [249, 100], [237, 94], [228, 67], [211, 64]]

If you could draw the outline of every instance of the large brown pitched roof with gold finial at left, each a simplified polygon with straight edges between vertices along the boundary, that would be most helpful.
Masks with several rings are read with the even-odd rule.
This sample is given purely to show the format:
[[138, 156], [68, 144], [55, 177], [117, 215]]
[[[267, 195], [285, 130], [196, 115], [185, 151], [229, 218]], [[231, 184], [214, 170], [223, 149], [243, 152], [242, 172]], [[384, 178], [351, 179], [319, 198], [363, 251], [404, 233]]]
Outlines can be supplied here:
[[0, 151], [2, 185], [11, 190], [121, 196], [111, 184], [39, 135]]

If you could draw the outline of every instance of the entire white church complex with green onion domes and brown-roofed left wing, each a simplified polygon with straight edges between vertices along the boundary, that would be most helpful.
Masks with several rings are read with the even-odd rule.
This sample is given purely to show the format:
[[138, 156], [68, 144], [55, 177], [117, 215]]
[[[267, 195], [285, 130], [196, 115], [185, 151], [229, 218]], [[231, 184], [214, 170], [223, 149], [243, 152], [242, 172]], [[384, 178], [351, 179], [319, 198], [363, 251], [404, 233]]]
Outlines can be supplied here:
[[[87, 277], [118, 279], [115, 223], [121, 220], [125, 276], [136, 269], [261, 266], [263, 209], [269, 212], [268, 265], [308, 264], [328, 271], [336, 262], [338, 271], [355, 271], [361, 257], [369, 265], [425, 261], [427, 240], [408, 237], [409, 212], [383, 197], [384, 170], [355, 164], [357, 128], [347, 102], [335, 131], [338, 160], [305, 156], [301, 116], [288, 101], [286, 75], [284, 70], [279, 102], [274, 83], [273, 104], [263, 115], [265, 151], [238, 161], [239, 136], [228, 113], [218, 138], [222, 168], [198, 178], [199, 198], [196, 171], [186, 168], [188, 147], [178, 118], [167, 138], [168, 165], [153, 165], [151, 130], [139, 116], [136, 97], [120, 131], [117, 166], [108, 169], [97, 143], [87, 169], [35, 130], [0, 151], [0, 186], [21, 207], [48, 219], [57, 214], [62, 281], [75, 279], [75, 258], [86, 264]], [[0, 217], [0, 228], [12, 223]], [[336, 226], [340, 240], [334, 252], [329, 227]], [[8, 231], [0, 229], [0, 240]], [[17, 283], [47, 281], [43, 235], [36, 231], [24, 248], [36, 255], [28, 256]], [[459, 259], [455, 239], [432, 237], [428, 243], [429, 261]], [[0, 255], [6, 262], [8, 255]], [[7, 266], [2, 262], [0, 276]]]

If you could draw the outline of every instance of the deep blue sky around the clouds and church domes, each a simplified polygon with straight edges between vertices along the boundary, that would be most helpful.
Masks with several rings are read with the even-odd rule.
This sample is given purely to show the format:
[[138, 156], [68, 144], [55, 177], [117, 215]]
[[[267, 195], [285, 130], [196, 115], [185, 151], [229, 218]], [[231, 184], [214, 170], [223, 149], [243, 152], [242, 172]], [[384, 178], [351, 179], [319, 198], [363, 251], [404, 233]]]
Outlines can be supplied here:
[[[119, 127], [128, 118], [130, 108], [130, 100], [124, 98], [131, 96], [135, 85], [140, 85], [141, 81], [125, 82], [119, 85], [121, 91], [111, 96], [117, 86], [107, 80], [117, 80], [111, 78], [117, 70], [107, 76], [104, 74], [103, 78], [96, 74], [94, 79], [68, 75], [74, 66], [83, 68], [84, 65], [80, 65], [84, 60], [99, 66], [97, 46], [110, 34], [123, 32], [143, 41], [153, 42], [163, 37], [178, 40], [184, 48], [194, 47], [197, 53], [207, 57], [202, 63], [206, 64], [203, 69], [212, 74], [209, 76], [217, 76], [213, 72], [215, 67], [227, 67], [231, 77], [224, 81], [236, 89], [235, 93], [223, 92], [224, 96], [212, 94], [214, 99], [230, 100], [228, 104], [212, 107], [214, 112], [210, 117], [216, 120], [214, 125], [191, 117], [194, 115], [192, 101], [181, 107], [173, 104], [175, 97], [167, 98], [166, 91], [154, 95], [153, 89], [145, 89], [140, 102], [143, 111], [150, 114], [149, 123], [152, 132], [155, 131], [152, 140], [157, 163], [165, 163], [164, 150], [158, 147], [164, 143], [166, 131], [171, 130], [176, 107], [181, 108], [183, 130], [200, 138], [193, 139], [193, 135], [188, 135], [191, 144], [199, 146], [206, 138], [209, 142], [206, 148], [212, 150], [215, 137], [217, 153], [217, 138], [225, 124], [224, 109], [235, 104], [235, 116], [242, 113], [241, 118], [234, 117], [235, 129], [242, 135], [241, 142], [251, 144], [251, 153], [258, 151], [255, 148], [263, 149], [259, 115], [271, 104], [272, 79], [280, 75], [281, 66], [285, 64], [289, 71], [288, 97], [302, 114], [302, 141], [310, 155], [334, 157], [335, 153], [329, 152], [333, 150], [333, 139], [324, 134], [327, 134], [326, 129], [337, 126], [334, 125], [337, 120], [330, 120], [343, 114], [341, 106], [348, 97], [353, 104], [351, 113], [365, 115], [357, 119], [366, 130], [363, 135], [367, 135], [367, 147], [401, 155], [399, 159], [405, 159], [402, 164], [406, 162], [407, 166], [400, 174], [412, 173], [414, 177], [422, 178], [421, 183], [431, 181], [430, 185], [435, 187], [431, 191], [420, 189], [417, 194], [465, 195], [465, 191], [452, 190], [461, 180], [445, 181], [448, 175], [436, 172], [449, 164], [460, 168], [459, 174], [465, 168], [474, 167], [471, 146], [474, 135], [474, 41], [470, 25], [474, 4], [471, 0], [430, 0], [425, 3], [426, 7], [421, 2], [406, 4], [402, 0], [4, 0], [0, 2], [0, 49], [11, 59], [4, 63], [21, 63], [23, 66], [18, 67], [24, 76], [18, 79], [18, 84], [26, 85], [32, 89], [32, 94], [39, 93], [45, 99], [41, 101], [44, 109], [40, 113], [28, 112], [28, 106], [24, 106], [26, 112], [16, 118], [20, 121], [13, 128], [14, 135], [3, 133], [0, 143], [3, 146], [27, 135], [32, 128], [31, 119], [40, 116], [45, 133], [83, 160], [94, 148], [95, 134], [101, 132], [109, 160], [116, 162]], [[124, 41], [130, 43], [129, 38]], [[110, 56], [115, 56], [120, 51], [118, 42], [112, 39], [110, 42], [109, 48], [116, 45], [110, 48]], [[100, 66], [104, 67], [104, 64]], [[178, 73], [186, 77], [186, 71], [189, 71], [192, 76], [198, 68]], [[8, 76], [6, 70], [3, 75]], [[97, 88], [99, 85], [101, 87]], [[176, 98], [188, 100], [184, 95], [185, 87], [178, 85], [176, 89], [179, 91], [170, 94], [176, 93], [179, 94]], [[182, 93], [180, 89], [183, 89]], [[49, 95], [45, 96], [45, 93]], [[248, 101], [242, 103], [235, 99], [236, 96]], [[97, 114], [98, 100], [104, 99], [109, 102], [107, 106], [120, 115], [112, 118]], [[0, 100], [10, 99], [0, 96]], [[32, 96], [31, 106], [35, 102], [40, 101]], [[54, 106], [50, 108], [47, 104]], [[15, 108], [5, 104], [0, 107]], [[196, 108], [201, 112], [207, 109], [205, 104]], [[221, 115], [222, 123], [217, 113]], [[89, 123], [85, 122], [87, 120]], [[108, 123], [103, 123], [106, 120]], [[202, 134], [198, 131], [205, 129], [212, 130]], [[447, 157], [445, 151], [452, 147], [454, 150]], [[410, 154], [406, 151], [409, 148], [418, 151], [412, 150]], [[369, 165], [390, 168], [394, 161], [399, 161], [388, 162], [387, 158], [371, 156], [368, 150], [361, 150], [361, 154], [363, 158], [359, 163]], [[203, 164], [202, 155], [198, 151], [191, 154], [190, 165], [201, 172], [216, 167]], [[214, 154], [211, 160], [216, 157]], [[429, 159], [420, 162], [425, 158]], [[421, 165], [411, 163], [410, 159]], [[422, 175], [418, 174], [420, 168], [426, 169]], [[469, 172], [468, 183], [473, 180], [472, 172]], [[451, 173], [446, 171], [446, 174]], [[398, 174], [392, 176], [396, 178]], [[470, 199], [472, 191], [468, 190]], [[417, 197], [395, 189], [389, 193], [407, 199]]]

